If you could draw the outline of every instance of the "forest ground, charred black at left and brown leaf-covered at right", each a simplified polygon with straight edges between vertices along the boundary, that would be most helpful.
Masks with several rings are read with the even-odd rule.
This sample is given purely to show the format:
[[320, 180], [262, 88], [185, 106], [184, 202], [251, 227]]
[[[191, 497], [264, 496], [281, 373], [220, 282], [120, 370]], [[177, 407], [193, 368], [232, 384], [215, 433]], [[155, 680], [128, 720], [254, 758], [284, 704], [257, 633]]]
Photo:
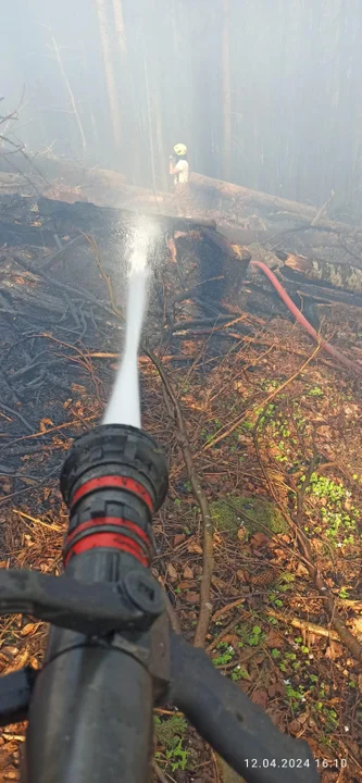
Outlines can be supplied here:
[[[67, 521], [59, 472], [72, 438], [100, 419], [111, 388], [132, 225], [128, 215], [105, 219], [91, 204], [60, 208], [16, 195], [0, 211], [1, 566], [57, 574]], [[284, 731], [327, 759], [323, 783], [354, 783], [362, 766], [361, 658], [345, 631], [362, 644], [360, 380], [291, 324], [242, 261], [238, 289], [229, 268], [216, 295], [199, 286], [222, 276], [226, 260], [205, 251], [202, 237], [184, 236], [173, 263], [165, 235], [174, 227], [162, 223], [154, 248], [145, 339], [178, 402], [214, 523], [204, 646]], [[305, 248], [301, 235], [298, 247], [283, 245], [287, 253]], [[339, 300], [317, 313], [323, 334], [358, 368], [362, 310]], [[140, 369], [143, 426], [170, 463], [168, 498], [154, 521], [154, 573], [192, 641], [208, 566], [202, 514], [164, 383], [142, 353]], [[32, 618], [4, 619], [2, 672], [38, 668], [46, 633]], [[23, 737], [24, 726], [2, 732], [1, 780], [17, 779]], [[226, 780], [210, 748], [167, 709], [155, 714], [155, 763], [159, 778], [179, 783]]]

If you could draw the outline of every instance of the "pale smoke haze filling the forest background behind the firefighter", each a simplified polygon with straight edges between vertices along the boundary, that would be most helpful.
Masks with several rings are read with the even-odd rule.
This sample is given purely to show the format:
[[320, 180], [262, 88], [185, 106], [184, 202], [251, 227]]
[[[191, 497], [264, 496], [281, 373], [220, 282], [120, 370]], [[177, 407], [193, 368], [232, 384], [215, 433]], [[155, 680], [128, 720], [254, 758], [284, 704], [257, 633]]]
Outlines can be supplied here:
[[191, 171], [335, 213], [361, 208], [360, 0], [14, 0], [1, 13], [2, 151], [168, 189]]

